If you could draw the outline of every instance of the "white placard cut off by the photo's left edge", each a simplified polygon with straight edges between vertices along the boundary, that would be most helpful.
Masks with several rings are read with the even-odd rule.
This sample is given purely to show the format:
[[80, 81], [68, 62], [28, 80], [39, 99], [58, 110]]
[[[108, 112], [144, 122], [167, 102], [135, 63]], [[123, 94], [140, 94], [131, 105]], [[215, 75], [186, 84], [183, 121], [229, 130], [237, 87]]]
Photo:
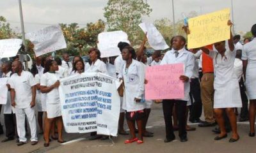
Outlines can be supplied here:
[[0, 40], [0, 58], [17, 55], [21, 44], [22, 40], [20, 39]]

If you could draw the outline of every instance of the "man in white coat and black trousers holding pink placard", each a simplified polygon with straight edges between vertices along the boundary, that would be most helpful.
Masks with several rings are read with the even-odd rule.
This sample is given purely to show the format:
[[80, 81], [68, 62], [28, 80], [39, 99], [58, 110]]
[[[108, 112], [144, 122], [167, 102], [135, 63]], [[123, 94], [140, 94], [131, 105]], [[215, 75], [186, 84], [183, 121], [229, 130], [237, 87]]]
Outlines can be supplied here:
[[166, 143], [175, 140], [172, 125], [172, 111], [174, 105], [178, 112], [180, 142], [188, 141], [186, 132], [186, 108], [189, 101], [189, 79], [193, 76], [193, 68], [195, 66], [194, 55], [185, 49], [186, 39], [183, 36], [175, 36], [172, 40], [173, 48], [166, 52], [161, 65], [175, 63], [184, 64], [185, 73], [179, 77], [179, 79], [184, 82], [184, 99], [163, 99], [164, 122], [166, 128], [166, 138], [164, 142]]

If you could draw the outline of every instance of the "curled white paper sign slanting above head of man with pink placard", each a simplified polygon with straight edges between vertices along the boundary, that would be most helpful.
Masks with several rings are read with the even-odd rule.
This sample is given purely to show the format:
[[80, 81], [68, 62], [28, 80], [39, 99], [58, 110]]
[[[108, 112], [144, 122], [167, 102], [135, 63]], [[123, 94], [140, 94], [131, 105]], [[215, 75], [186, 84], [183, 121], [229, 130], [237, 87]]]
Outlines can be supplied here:
[[144, 33], [147, 33], [147, 39], [150, 47], [154, 48], [154, 50], [165, 50], [170, 48], [161, 33], [156, 29], [154, 24], [149, 23], [141, 23], [139, 24], [140, 28]]

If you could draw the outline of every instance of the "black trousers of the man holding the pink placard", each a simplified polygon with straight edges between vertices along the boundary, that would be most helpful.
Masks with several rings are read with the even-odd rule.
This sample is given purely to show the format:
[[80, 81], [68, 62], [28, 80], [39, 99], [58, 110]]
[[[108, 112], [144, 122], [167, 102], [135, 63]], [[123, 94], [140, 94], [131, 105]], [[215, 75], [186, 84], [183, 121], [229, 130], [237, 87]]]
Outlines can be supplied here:
[[163, 100], [163, 112], [164, 112], [166, 138], [168, 138], [168, 139], [175, 138], [175, 135], [173, 133], [173, 125], [172, 125], [172, 110], [173, 110], [174, 103], [175, 103], [175, 108], [176, 108], [176, 111], [178, 114], [179, 137], [184, 138], [187, 136], [187, 132], [186, 132], [187, 101], [164, 99]]

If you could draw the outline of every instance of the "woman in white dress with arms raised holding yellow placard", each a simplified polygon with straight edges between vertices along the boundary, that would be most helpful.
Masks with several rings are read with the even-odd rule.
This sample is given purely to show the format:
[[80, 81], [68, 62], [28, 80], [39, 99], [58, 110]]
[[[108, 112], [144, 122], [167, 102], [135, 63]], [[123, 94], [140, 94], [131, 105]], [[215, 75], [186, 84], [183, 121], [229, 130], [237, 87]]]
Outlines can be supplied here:
[[205, 54], [213, 59], [214, 64], [214, 113], [218, 126], [220, 127], [220, 135], [216, 136], [214, 140], [221, 140], [227, 137], [225, 130], [225, 121], [223, 119], [223, 111], [227, 112], [228, 119], [232, 128], [232, 137], [229, 142], [236, 142], [239, 140], [237, 133], [236, 114], [234, 108], [241, 107], [242, 101], [239, 90], [239, 83], [234, 71], [234, 61], [236, 58], [236, 49], [233, 43], [231, 33], [232, 23], [228, 20], [230, 26], [230, 40], [226, 47], [225, 41], [214, 43], [216, 51], [209, 52], [205, 47], [201, 49]]

